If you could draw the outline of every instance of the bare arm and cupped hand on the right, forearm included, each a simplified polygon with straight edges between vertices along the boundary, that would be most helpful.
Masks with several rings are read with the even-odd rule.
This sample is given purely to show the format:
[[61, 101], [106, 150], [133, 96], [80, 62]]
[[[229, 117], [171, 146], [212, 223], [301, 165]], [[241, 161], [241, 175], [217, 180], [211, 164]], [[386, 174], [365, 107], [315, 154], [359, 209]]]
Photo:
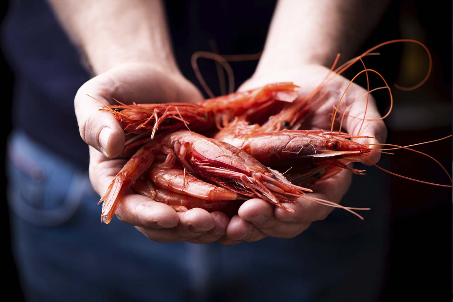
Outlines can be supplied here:
[[[366, 6], [365, 6], [366, 5]], [[307, 96], [323, 80], [335, 55], [341, 52], [350, 58], [379, 21], [387, 1], [373, 3], [373, 7], [354, 0], [289, 1], [280, 0], [270, 25], [265, 49], [255, 74], [246, 81], [242, 89], [250, 89], [272, 81], [294, 81], [302, 87], [300, 94]], [[309, 13], [308, 13], [309, 12]], [[303, 17], [302, 17], [303, 15]], [[337, 77], [325, 86], [329, 90], [328, 101], [303, 126], [306, 129], [329, 129], [327, 115], [332, 105], [345, 90], [348, 81]], [[357, 85], [348, 90], [345, 103], [351, 103], [365, 91]], [[361, 116], [364, 101], [351, 107], [351, 115]], [[380, 117], [375, 101], [370, 99], [368, 118]], [[346, 119], [347, 132], [357, 133], [357, 120]], [[372, 122], [363, 135], [376, 136], [374, 142], [384, 142], [386, 127], [382, 121]], [[365, 141], [360, 141], [366, 143]], [[377, 162], [379, 155], [371, 161]], [[340, 202], [351, 184], [352, 175], [342, 171], [334, 177], [313, 186], [313, 197]], [[219, 241], [237, 244], [243, 240], [256, 241], [266, 236], [292, 238], [306, 230], [313, 221], [323, 220], [333, 210], [314, 201], [300, 200], [286, 205], [294, 214], [273, 208], [260, 199], [246, 201], [237, 216], [232, 217], [226, 236]]]

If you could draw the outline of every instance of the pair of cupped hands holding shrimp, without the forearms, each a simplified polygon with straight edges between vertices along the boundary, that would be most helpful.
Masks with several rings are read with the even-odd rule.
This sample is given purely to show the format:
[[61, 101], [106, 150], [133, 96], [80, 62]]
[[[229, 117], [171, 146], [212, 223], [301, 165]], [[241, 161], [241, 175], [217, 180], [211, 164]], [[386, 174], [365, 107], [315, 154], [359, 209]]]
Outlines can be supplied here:
[[[239, 91], [264, 86], [268, 83], [292, 81], [301, 87], [299, 96], [307, 96], [328, 74], [329, 69], [320, 65], [305, 65], [293, 70], [255, 72]], [[349, 80], [335, 76], [323, 86], [321, 93], [328, 91], [328, 100], [310, 116], [309, 129], [330, 130], [328, 114], [345, 91]], [[178, 71], [168, 72], [152, 64], [129, 63], [120, 65], [93, 77], [77, 91], [74, 105], [82, 139], [90, 149], [90, 180], [94, 190], [103, 195], [111, 180], [126, 163], [116, 158], [123, 150], [124, 132], [113, 115], [99, 111], [102, 107], [90, 96], [105, 104], [113, 98], [125, 103], [165, 103], [202, 101], [200, 91]], [[354, 103], [348, 112], [352, 116], [363, 116], [366, 90], [352, 84], [342, 100], [342, 108]], [[370, 96], [367, 118], [379, 118], [375, 101]], [[350, 134], [357, 133], [361, 120], [345, 117], [343, 127]], [[365, 124], [366, 125], [366, 124]], [[363, 128], [362, 128], [363, 129]], [[371, 121], [362, 135], [376, 139], [362, 139], [361, 143], [378, 143], [386, 139], [386, 127], [381, 120]], [[373, 146], [372, 146], [373, 147]], [[377, 148], [378, 146], [376, 146]], [[379, 160], [379, 153], [371, 156], [372, 162]], [[343, 170], [334, 177], [313, 185], [317, 197], [339, 203], [352, 181], [352, 173]], [[353, 206], [355, 201], [348, 201]], [[139, 194], [127, 194], [116, 210], [120, 221], [134, 225], [146, 237], [158, 242], [188, 241], [222, 244], [237, 244], [241, 241], [257, 241], [267, 236], [293, 238], [306, 230], [313, 221], [325, 219], [332, 207], [320, 205], [308, 199], [285, 204], [294, 213], [271, 205], [267, 201], [253, 198], [245, 201], [238, 214], [231, 219], [221, 212], [209, 213], [200, 208], [176, 212], [164, 203], [153, 201]], [[101, 208], [99, 209], [101, 215]], [[115, 223], [115, 222], [113, 222]]]

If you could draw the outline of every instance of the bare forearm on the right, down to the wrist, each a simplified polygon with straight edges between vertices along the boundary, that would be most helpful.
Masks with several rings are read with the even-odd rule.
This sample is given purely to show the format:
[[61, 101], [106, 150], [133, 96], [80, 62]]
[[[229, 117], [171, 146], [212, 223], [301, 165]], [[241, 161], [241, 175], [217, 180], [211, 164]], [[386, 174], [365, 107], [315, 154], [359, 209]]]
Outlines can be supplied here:
[[280, 0], [257, 71], [350, 58], [381, 19], [388, 0]]

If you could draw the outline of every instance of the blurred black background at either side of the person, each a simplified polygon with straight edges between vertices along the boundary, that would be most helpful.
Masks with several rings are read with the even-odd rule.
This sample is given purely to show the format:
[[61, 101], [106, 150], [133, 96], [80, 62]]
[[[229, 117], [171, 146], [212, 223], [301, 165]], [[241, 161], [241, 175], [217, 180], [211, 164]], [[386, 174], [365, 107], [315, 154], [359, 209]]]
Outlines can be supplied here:
[[[3, 18], [7, 4], [1, 3]], [[386, 17], [386, 27], [373, 34], [364, 49], [374, 46], [381, 37], [383, 42], [393, 38], [414, 38], [424, 43], [433, 56], [433, 71], [429, 80], [415, 91], [393, 90], [395, 108], [386, 119], [389, 129], [387, 142], [413, 144], [441, 138], [452, 133], [451, 129], [451, 3], [439, 7], [430, 1], [394, 2]], [[209, 50], [209, 49], [205, 49]], [[260, 49], [257, 49], [259, 51]], [[376, 69], [383, 71], [390, 83], [411, 86], [418, 82], [427, 67], [427, 57], [421, 48], [410, 44], [383, 49]], [[374, 58], [367, 61], [369, 67]], [[377, 59], [376, 59], [377, 60]], [[233, 69], [241, 67], [233, 63]], [[3, 74], [3, 133], [6, 139], [10, 132], [10, 107], [14, 82], [4, 59], [0, 60]], [[201, 65], [202, 69], [203, 66]], [[351, 74], [353, 71], [351, 71]], [[238, 79], [243, 81], [244, 79]], [[236, 87], [237, 88], [237, 87]], [[214, 91], [218, 94], [217, 91]], [[376, 94], [376, 99], [387, 96]], [[381, 97], [380, 97], [381, 96]], [[386, 103], [379, 103], [386, 111]], [[417, 148], [438, 159], [451, 174], [451, 139]], [[2, 149], [2, 158], [5, 150]], [[385, 161], [387, 169], [409, 177], [429, 182], [448, 183], [442, 170], [429, 158], [408, 151], [395, 152]], [[371, 169], [371, 168], [368, 168]], [[382, 172], [383, 173], [383, 172]], [[376, 183], [387, 186], [390, 192], [390, 246], [386, 266], [386, 280], [381, 292], [382, 301], [404, 298], [414, 301], [435, 301], [436, 297], [448, 299], [451, 286], [451, 189], [417, 184], [397, 177], [387, 177], [388, 182]], [[370, 181], [373, 181], [370, 179]], [[3, 191], [5, 192], [5, 190]], [[373, 192], [369, 192], [373, 194]], [[6, 200], [6, 196], [4, 197]], [[364, 196], [363, 198], [366, 198]], [[3, 203], [3, 238], [7, 242], [5, 276], [8, 292], [14, 300], [22, 298], [14, 261], [10, 254], [10, 232], [7, 203]], [[370, 259], [373, 261], [373, 259]], [[366, 276], [364, 276], [366, 278]], [[351, 290], [354, 285], [351, 284]]]

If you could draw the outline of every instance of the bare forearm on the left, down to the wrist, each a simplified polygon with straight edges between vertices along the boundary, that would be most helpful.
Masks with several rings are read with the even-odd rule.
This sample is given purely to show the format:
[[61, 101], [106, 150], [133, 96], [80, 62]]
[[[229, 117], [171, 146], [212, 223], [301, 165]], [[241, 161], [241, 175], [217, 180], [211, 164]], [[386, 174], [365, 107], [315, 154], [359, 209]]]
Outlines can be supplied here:
[[177, 70], [159, 0], [48, 0], [95, 74], [127, 62]]

